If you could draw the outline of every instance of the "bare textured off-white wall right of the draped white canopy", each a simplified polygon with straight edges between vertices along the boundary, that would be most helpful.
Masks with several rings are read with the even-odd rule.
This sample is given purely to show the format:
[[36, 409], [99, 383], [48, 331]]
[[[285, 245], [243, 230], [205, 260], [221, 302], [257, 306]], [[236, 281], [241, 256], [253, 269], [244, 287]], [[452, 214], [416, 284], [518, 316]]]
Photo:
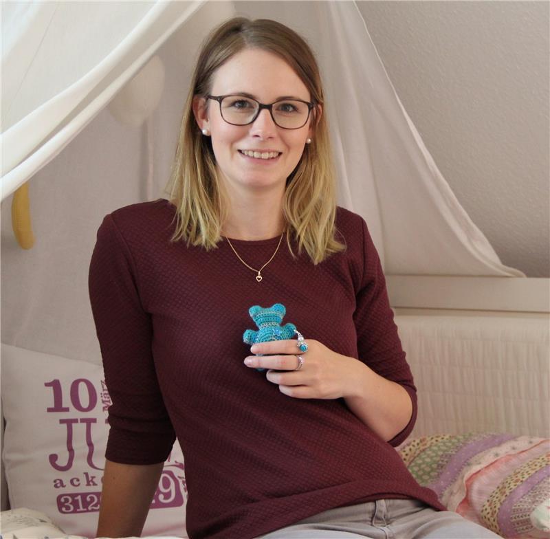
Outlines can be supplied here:
[[428, 151], [501, 261], [550, 276], [549, 3], [360, 1]]

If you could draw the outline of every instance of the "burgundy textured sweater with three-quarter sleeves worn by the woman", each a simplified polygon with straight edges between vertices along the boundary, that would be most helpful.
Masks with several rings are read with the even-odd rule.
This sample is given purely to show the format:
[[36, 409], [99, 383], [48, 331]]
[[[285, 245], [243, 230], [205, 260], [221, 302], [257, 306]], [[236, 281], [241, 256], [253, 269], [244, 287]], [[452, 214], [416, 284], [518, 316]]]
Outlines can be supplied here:
[[[283, 239], [258, 283], [225, 240], [210, 252], [170, 243], [174, 211], [164, 199], [137, 203], [107, 215], [98, 230], [89, 294], [113, 402], [107, 459], [159, 463], [177, 437], [191, 539], [253, 539], [377, 498], [444, 509], [392, 447], [415, 423], [416, 389], [362, 217], [338, 208], [347, 250], [317, 266], [305, 252], [292, 259]], [[278, 240], [232, 243], [261, 267]], [[265, 371], [245, 366], [243, 332], [257, 329], [248, 309], [274, 303], [306, 340], [401, 384], [413, 404], [408, 426], [386, 442], [343, 398], [289, 397]]]

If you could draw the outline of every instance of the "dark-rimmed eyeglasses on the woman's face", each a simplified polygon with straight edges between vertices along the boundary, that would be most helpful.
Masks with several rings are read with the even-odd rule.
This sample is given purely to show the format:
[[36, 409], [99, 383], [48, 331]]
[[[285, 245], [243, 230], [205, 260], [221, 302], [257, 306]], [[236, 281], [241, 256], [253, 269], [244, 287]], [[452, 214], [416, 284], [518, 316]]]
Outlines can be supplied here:
[[221, 118], [232, 125], [252, 124], [262, 109], [270, 111], [275, 124], [283, 129], [300, 129], [307, 124], [315, 104], [301, 99], [280, 99], [270, 104], [247, 96], [206, 96], [219, 102]]

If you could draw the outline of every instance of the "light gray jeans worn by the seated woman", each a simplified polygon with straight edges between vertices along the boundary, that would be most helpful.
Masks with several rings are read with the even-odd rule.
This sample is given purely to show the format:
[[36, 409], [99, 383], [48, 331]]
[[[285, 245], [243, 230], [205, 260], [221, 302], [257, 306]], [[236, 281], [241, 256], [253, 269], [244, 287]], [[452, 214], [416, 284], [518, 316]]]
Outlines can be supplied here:
[[336, 507], [256, 539], [495, 539], [454, 511], [419, 500], [376, 500]]

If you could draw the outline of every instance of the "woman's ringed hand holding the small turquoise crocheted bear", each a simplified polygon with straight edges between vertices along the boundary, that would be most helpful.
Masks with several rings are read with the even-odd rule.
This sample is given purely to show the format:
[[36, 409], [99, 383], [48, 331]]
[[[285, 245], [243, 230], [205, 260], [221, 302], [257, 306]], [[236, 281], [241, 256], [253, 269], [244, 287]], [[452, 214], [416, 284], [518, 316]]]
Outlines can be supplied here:
[[[333, 352], [314, 339], [306, 339], [307, 352], [300, 352], [297, 342], [287, 339], [254, 344], [250, 351], [264, 355], [250, 355], [245, 364], [270, 369], [267, 380], [278, 384], [281, 393], [296, 399], [338, 399], [357, 394], [355, 388], [364, 366], [360, 361]], [[296, 355], [304, 360], [299, 371], [294, 370], [298, 366]]]

